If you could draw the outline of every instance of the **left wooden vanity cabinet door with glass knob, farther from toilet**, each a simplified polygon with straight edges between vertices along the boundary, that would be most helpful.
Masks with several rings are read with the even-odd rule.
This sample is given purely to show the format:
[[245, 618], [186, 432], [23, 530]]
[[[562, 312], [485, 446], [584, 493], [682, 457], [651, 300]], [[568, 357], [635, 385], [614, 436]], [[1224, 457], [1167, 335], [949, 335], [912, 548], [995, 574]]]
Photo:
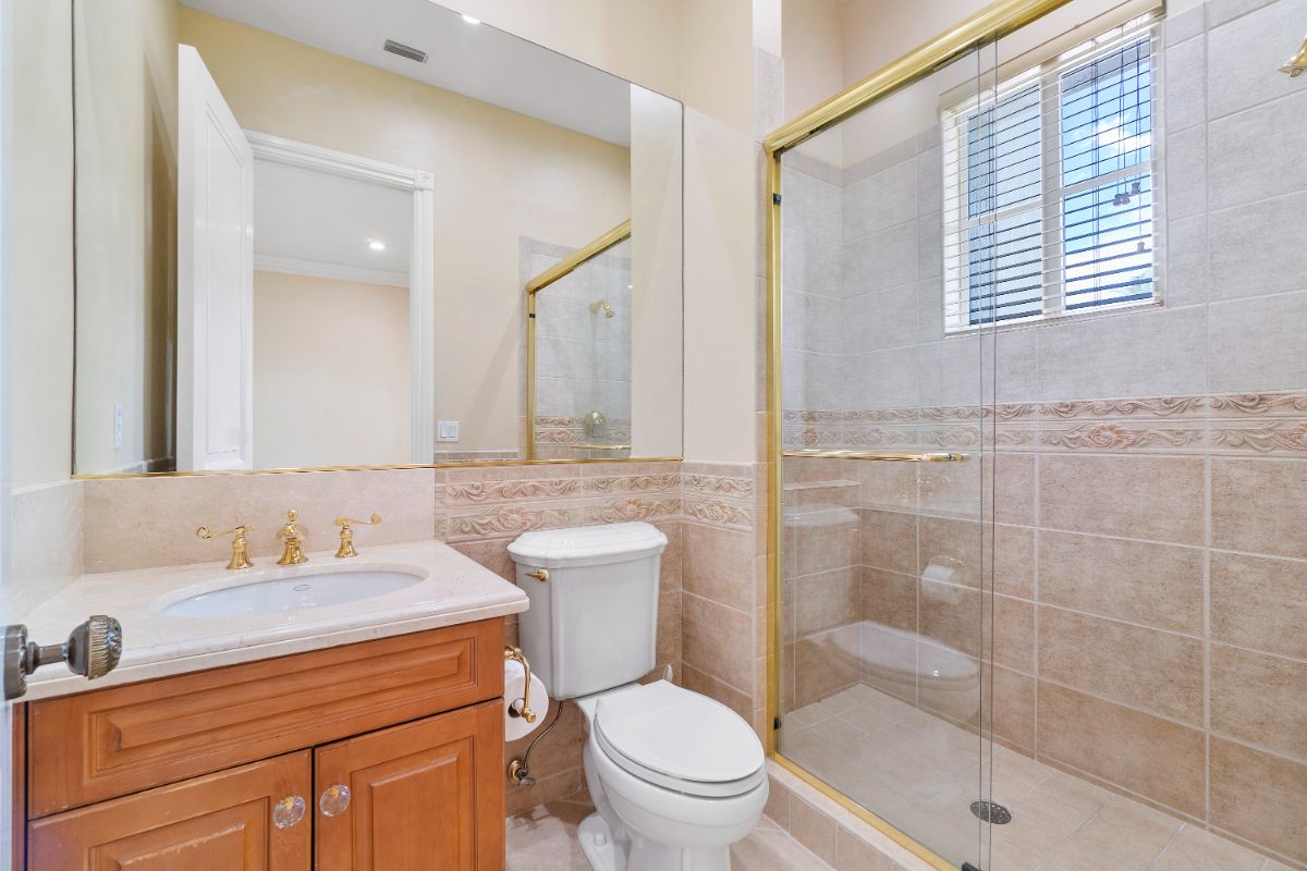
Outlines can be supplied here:
[[35, 820], [27, 868], [306, 871], [311, 764], [288, 753]]

